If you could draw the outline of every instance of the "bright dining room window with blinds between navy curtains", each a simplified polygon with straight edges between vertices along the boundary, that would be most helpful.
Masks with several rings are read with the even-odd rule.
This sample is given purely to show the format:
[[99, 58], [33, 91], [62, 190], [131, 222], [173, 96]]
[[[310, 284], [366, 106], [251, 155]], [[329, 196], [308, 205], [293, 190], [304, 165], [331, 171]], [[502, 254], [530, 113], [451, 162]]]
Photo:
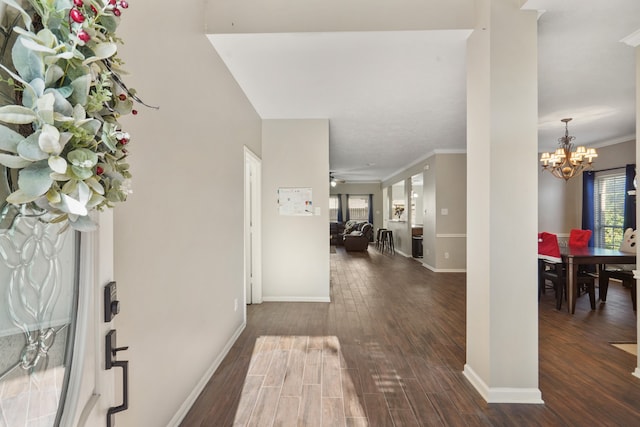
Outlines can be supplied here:
[[596, 176], [594, 191], [594, 243], [617, 249], [624, 234], [625, 175]]

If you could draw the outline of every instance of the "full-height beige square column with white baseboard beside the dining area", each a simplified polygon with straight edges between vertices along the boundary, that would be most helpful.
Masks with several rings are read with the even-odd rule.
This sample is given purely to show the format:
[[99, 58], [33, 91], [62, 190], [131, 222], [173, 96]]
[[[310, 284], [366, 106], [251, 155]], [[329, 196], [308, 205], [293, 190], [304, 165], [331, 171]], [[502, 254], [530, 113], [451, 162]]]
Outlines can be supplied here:
[[467, 361], [489, 403], [538, 388], [537, 12], [480, 0], [467, 45]]

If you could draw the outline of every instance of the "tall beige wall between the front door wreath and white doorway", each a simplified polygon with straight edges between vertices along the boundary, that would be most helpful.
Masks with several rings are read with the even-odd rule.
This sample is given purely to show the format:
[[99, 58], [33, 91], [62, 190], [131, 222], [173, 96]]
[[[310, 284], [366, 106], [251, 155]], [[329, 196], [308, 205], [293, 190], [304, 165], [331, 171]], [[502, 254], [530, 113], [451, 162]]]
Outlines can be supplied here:
[[169, 425], [243, 325], [243, 146], [261, 153], [261, 120], [202, 14], [201, 1], [136, 1], [118, 32], [127, 84], [160, 106], [122, 120], [134, 178], [115, 209], [115, 325], [129, 346], [118, 358], [130, 361], [121, 427]]

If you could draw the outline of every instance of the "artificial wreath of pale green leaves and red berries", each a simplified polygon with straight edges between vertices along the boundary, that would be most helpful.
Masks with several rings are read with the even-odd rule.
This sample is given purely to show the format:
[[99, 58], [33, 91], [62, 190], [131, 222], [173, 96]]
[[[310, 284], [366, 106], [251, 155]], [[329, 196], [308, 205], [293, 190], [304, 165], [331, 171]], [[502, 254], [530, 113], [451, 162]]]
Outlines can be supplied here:
[[118, 119], [142, 101], [120, 78], [115, 34], [129, 5], [3, 3], [0, 164], [12, 188], [2, 210], [28, 206], [43, 220], [92, 230], [91, 211], [130, 193], [130, 137]]

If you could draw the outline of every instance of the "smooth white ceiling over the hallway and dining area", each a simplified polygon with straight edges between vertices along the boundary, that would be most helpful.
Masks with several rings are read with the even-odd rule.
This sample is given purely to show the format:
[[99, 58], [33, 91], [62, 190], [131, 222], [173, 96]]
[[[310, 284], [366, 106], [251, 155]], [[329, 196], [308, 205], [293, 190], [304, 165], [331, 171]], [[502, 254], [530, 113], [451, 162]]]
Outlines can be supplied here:
[[[638, 0], [529, 0], [538, 21], [539, 148], [635, 138]], [[330, 168], [380, 181], [466, 147], [470, 31], [220, 34], [209, 39], [263, 119], [328, 118]], [[516, 142], [517, 143], [517, 142]]]

